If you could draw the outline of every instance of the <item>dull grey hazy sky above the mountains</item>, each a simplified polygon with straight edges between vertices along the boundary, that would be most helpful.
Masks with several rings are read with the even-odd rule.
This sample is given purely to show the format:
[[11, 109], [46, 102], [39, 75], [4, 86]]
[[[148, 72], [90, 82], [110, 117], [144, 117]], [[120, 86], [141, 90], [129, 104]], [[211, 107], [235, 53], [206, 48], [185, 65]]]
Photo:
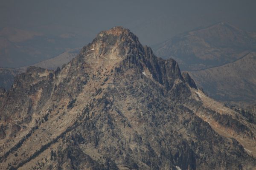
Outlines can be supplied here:
[[93, 39], [124, 26], [152, 45], [219, 21], [256, 31], [255, 7], [256, 0], [1, 0], [0, 27]]

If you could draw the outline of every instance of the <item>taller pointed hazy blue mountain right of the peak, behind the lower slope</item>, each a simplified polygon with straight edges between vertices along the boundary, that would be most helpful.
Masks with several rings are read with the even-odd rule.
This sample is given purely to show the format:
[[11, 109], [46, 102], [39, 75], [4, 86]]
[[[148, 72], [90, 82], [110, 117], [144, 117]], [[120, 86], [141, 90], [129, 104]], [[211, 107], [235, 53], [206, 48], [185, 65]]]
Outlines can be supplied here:
[[177, 35], [154, 47], [162, 58], [174, 58], [181, 70], [195, 71], [236, 61], [256, 51], [256, 36], [229, 23]]

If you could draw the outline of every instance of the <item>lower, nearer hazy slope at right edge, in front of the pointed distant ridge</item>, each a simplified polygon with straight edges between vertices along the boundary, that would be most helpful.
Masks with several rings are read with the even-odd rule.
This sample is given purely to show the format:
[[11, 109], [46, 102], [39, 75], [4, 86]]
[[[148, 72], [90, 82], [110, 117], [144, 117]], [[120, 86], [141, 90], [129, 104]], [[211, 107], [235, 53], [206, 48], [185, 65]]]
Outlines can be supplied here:
[[210, 97], [242, 105], [256, 99], [256, 53], [219, 67], [189, 74]]

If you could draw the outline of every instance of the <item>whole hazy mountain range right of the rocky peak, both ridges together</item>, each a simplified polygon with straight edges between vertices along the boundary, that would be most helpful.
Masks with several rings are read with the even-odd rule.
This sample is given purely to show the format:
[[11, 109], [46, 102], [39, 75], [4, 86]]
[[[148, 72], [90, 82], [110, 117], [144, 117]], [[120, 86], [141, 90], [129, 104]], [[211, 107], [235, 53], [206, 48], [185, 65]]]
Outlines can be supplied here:
[[256, 100], [256, 34], [221, 22], [155, 45], [162, 58], [174, 58], [214, 99], [242, 107]]

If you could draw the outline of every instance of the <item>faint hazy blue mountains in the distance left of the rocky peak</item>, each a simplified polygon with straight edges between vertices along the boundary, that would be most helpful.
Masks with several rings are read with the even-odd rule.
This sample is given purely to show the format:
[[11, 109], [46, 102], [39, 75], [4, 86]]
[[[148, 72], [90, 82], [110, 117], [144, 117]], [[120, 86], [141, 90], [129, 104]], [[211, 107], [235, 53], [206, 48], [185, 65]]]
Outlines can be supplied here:
[[52, 36], [17, 28], [3, 28], [0, 30], [0, 67], [33, 65], [81, 47], [89, 40], [76, 34]]

